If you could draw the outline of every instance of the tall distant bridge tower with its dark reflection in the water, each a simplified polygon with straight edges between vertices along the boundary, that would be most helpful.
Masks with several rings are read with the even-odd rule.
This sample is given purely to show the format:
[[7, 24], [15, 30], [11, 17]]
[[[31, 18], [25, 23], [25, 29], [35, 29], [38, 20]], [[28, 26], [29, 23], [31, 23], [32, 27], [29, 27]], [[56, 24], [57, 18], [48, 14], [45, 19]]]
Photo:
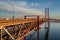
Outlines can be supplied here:
[[48, 40], [49, 37], [49, 28], [50, 28], [50, 20], [49, 20], [49, 8], [45, 8], [45, 19], [47, 18], [47, 21], [45, 22], [45, 39]]

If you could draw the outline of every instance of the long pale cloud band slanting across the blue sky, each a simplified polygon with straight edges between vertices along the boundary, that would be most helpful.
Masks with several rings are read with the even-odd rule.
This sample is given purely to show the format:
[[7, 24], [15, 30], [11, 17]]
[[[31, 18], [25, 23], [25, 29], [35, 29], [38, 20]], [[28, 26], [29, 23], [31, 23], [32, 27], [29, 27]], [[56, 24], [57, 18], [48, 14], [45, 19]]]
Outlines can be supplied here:
[[[14, 5], [14, 7], [13, 7]], [[32, 6], [35, 5], [35, 4], [32, 4]], [[36, 4], [38, 5], [38, 4]], [[17, 13], [20, 13], [20, 14], [23, 14], [23, 15], [41, 15], [42, 12], [41, 11], [38, 11], [36, 9], [30, 9], [30, 8], [27, 8], [27, 3], [26, 2], [20, 2], [18, 3], [17, 5], [16, 4], [10, 4], [10, 3], [7, 3], [7, 2], [0, 2], [0, 8], [4, 9], [4, 10], [7, 10], [7, 11], [10, 11], [10, 12], [17, 12]]]

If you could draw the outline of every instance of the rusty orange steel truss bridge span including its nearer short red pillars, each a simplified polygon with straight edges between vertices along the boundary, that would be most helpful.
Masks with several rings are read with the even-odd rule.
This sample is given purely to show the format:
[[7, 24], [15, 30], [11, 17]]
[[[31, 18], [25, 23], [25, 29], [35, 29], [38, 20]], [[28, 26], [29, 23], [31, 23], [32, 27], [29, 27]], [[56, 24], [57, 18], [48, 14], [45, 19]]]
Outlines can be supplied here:
[[26, 40], [27, 35], [37, 30], [37, 40], [39, 40], [39, 26], [46, 21], [47, 19], [39, 16], [33, 19], [24, 16], [24, 19], [0, 20], [0, 39]]

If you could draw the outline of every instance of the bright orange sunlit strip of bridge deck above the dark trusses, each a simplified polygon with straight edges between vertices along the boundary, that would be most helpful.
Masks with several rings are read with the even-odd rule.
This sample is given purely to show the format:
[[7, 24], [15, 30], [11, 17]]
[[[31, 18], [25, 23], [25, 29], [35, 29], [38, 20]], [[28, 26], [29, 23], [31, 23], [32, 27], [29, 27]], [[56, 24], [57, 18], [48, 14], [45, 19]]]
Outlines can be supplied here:
[[28, 22], [34, 22], [36, 20], [32, 20], [32, 19], [16, 19], [16, 20], [0, 20], [0, 29], [2, 29], [5, 26], [9, 26], [9, 25], [16, 25], [16, 24], [24, 24], [24, 23], [28, 23]]

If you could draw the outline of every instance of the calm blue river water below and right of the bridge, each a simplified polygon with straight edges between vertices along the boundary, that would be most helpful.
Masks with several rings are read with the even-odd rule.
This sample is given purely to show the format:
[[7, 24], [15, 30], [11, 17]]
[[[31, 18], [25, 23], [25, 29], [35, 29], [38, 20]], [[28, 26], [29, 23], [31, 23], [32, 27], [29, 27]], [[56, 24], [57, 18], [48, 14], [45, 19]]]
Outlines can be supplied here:
[[[42, 24], [40, 31], [40, 40], [45, 40], [45, 26]], [[35, 31], [32, 31], [31, 34], [33, 34]], [[34, 35], [31, 36], [28, 35], [26, 37], [27, 40], [37, 40], [37, 31], [34, 33]], [[50, 29], [49, 29], [49, 35], [48, 40], [60, 40], [60, 23], [50, 23]]]

